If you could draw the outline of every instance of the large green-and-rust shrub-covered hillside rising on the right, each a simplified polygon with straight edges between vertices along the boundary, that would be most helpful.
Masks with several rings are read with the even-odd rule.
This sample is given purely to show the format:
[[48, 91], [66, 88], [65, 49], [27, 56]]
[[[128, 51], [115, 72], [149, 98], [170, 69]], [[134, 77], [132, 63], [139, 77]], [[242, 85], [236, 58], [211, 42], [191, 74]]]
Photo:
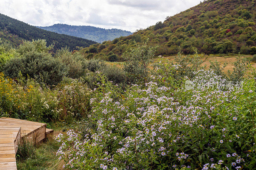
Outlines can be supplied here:
[[256, 54], [255, 16], [254, 0], [208, 0], [147, 29], [82, 51], [88, 58], [108, 59], [110, 52], [120, 57], [134, 41], [149, 39], [148, 45], [158, 46], [156, 55], [177, 54], [179, 46], [184, 53], [193, 53], [195, 47], [206, 54]]

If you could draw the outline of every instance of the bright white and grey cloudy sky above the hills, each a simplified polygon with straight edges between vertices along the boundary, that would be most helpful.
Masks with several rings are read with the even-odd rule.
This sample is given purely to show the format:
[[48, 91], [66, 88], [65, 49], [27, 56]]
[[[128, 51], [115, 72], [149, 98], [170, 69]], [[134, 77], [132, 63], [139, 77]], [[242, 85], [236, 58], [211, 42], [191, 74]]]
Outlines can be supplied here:
[[0, 13], [30, 25], [92, 25], [136, 31], [200, 0], [0, 0]]

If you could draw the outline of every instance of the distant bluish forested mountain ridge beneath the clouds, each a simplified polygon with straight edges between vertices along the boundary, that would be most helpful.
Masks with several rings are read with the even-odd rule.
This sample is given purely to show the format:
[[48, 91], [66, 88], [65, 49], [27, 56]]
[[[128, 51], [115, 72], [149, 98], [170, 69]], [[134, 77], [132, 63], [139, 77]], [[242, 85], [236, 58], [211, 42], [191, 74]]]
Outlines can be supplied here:
[[130, 31], [120, 29], [104, 29], [94, 26], [76, 26], [67, 24], [54, 24], [52, 26], [37, 27], [47, 31], [57, 32], [59, 34], [67, 34], [84, 39], [90, 39], [99, 43], [132, 34]]

